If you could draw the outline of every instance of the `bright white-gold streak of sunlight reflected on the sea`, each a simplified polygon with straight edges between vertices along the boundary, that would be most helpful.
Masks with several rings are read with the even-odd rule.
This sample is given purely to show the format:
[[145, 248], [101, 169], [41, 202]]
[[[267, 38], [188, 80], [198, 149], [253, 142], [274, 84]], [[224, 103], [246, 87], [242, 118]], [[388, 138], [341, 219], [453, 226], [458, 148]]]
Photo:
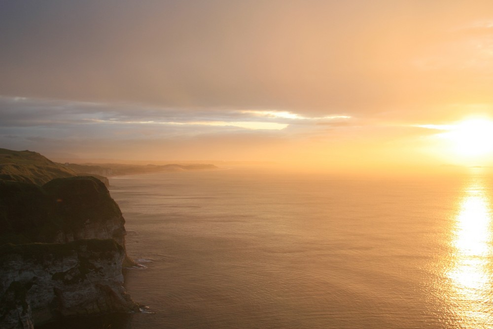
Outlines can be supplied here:
[[459, 328], [493, 328], [490, 259], [491, 206], [486, 186], [474, 179], [464, 191], [454, 227], [451, 305]]

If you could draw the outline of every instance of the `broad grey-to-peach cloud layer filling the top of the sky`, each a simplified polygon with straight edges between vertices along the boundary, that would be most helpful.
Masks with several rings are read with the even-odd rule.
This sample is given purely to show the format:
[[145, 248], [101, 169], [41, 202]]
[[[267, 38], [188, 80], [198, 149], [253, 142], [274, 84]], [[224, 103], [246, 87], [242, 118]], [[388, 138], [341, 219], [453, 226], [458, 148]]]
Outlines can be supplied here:
[[1, 1], [0, 93], [350, 115], [491, 101], [491, 68], [459, 68], [485, 58], [440, 61], [490, 3]]

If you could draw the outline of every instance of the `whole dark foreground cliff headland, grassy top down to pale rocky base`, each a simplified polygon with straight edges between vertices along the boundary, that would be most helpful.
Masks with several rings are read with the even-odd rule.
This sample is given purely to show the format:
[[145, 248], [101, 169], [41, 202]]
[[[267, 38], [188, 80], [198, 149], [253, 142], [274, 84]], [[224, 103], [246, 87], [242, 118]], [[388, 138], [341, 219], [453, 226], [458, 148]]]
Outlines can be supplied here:
[[3, 182], [0, 200], [0, 328], [139, 311], [123, 288], [125, 220], [103, 183]]

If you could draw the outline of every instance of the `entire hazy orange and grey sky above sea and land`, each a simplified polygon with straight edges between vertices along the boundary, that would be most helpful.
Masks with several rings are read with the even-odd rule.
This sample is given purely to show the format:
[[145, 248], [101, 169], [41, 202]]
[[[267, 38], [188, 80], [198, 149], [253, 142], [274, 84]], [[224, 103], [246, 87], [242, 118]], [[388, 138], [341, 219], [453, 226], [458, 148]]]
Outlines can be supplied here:
[[492, 1], [0, 0], [0, 47], [3, 148], [493, 164], [460, 125], [493, 114]]

